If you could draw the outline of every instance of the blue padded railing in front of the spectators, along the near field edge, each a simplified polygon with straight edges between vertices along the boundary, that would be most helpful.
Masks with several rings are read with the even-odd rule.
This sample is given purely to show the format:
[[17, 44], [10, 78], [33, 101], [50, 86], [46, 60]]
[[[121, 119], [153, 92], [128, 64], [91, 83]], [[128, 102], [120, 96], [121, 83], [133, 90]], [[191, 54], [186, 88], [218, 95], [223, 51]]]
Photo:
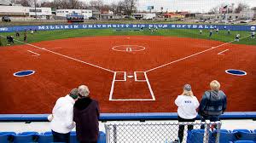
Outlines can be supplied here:
[[[0, 121], [47, 121], [48, 116], [49, 114], [0, 114]], [[221, 119], [255, 118], [256, 112], [224, 112], [221, 116]], [[177, 120], [177, 112], [101, 113], [100, 120]]]

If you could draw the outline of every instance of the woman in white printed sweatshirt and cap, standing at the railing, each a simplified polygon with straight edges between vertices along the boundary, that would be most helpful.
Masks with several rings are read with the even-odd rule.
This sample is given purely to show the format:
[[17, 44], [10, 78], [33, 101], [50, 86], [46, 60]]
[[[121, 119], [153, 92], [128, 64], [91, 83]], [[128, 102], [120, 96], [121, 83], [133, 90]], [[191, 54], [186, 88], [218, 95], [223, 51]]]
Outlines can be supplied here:
[[[195, 122], [197, 116], [196, 108], [199, 106], [197, 98], [194, 96], [191, 86], [185, 84], [183, 87], [183, 94], [178, 95], [175, 100], [177, 106], [177, 120], [178, 122]], [[193, 125], [188, 126], [189, 130], [193, 129]], [[183, 141], [184, 125], [178, 126], [178, 140]]]

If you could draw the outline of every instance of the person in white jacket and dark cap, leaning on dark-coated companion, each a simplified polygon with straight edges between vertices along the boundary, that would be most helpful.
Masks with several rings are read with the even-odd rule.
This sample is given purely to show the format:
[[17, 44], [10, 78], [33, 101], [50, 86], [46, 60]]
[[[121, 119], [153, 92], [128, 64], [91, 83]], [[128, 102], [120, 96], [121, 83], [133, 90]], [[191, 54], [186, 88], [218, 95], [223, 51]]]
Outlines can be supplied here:
[[72, 89], [70, 94], [56, 101], [52, 114], [48, 117], [54, 142], [69, 142], [70, 132], [75, 127], [73, 105], [78, 97], [78, 89]]

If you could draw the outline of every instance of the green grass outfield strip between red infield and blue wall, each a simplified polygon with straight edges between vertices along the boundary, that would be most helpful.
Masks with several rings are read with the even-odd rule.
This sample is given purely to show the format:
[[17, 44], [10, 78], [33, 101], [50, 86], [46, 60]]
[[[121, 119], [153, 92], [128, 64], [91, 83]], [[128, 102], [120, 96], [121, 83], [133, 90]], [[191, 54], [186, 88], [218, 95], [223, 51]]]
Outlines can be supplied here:
[[[40, 41], [49, 41], [62, 38], [70, 37], [92, 37], [92, 36], [170, 36], [170, 37], [192, 37], [192, 38], [202, 38], [202, 39], [211, 39], [222, 42], [230, 42], [235, 39], [236, 34], [239, 33], [241, 37], [246, 37], [251, 33], [249, 31], [231, 31], [231, 34], [228, 35], [227, 31], [219, 31], [218, 34], [213, 32], [212, 37], [209, 38], [209, 31], [203, 30], [202, 34], [199, 33], [199, 30], [188, 30], [188, 29], [159, 29], [158, 31], [150, 32], [148, 29], [143, 31], [115, 31], [114, 29], [77, 29], [77, 30], [55, 30], [55, 31], [38, 31], [33, 35], [28, 32], [27, 34], [27, 43], [36, 43]], [[15, 35], [14, 32], [11, 33], [1, 33], [1, 42], [2, 46], [7, 45], [6, 36]], [[23, 32], [20, 32], [20, 37], [16, 38], [17, 40], [23, 41]], [[256, 45], [256, 39], [251, 39], [247, 37], [241, 39], [240, 42], [234, 42], [237, 44], [249, 44]], [[15, 44], [23, 44], [15, 42]]]

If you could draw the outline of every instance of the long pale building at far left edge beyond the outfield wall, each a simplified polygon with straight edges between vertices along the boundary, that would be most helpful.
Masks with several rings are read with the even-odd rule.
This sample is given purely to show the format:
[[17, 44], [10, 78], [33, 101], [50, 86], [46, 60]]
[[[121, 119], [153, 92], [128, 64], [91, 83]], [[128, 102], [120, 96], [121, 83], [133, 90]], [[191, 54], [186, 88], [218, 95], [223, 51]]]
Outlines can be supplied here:
[[50, 20], [53, 15], [50, 8], [0, 5], [0, 16], [9, 16], [12, 20]]

